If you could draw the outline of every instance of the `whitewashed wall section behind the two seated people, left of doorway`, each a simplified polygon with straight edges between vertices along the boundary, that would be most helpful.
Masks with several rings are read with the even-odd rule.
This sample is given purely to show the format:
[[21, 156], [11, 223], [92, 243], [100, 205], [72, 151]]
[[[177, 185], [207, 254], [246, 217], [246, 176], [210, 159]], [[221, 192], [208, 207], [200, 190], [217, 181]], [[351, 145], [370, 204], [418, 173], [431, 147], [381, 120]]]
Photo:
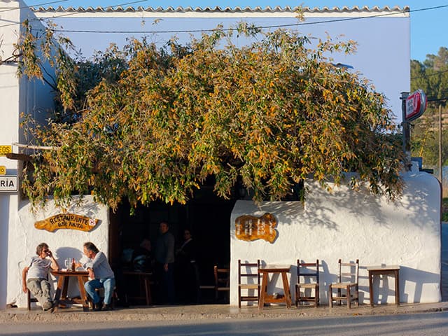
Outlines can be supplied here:
[[[97, 226], [90, 232], [79, 230], [56, 230], [48, 232], [34, 228], [36, 221], [41, 221], [50, 216], [60, 214], [61, 210], [49, 202], [48, 206], [38, 213], [33, 214], [28, 202], [20, 204], [17, 221], [10, 221], [9, 231], [9, 254], [8, 254], [8, 297], [7, 302], [15, 302], [18, 307], [26, 307], [27, 297], [22, 292], [22, 269], [27, 261], [36, 255], [36, 246], [45, 242], [50, 246], [59, 267], [64, 268], [66, 258], [75, 258], [85, 261], [83, 255], [83, 244], [92, 241], [100, 251], [107, 255], [109, 246], [109, 208], [92, 202], [92, 197], [85, 196], [81, 207], [70, 207], [67, 212], [97, 218]], [[53, 288], [56, 287], [52, 277]], [[78, 289], [71, 283], [69, 296], [78, 295]]]

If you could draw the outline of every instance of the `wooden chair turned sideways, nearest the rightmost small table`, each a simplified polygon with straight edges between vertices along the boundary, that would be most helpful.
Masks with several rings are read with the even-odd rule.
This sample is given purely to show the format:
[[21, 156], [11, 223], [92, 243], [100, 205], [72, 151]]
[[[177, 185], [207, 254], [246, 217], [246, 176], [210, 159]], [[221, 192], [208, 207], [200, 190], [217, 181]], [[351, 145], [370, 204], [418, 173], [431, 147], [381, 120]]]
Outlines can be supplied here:
[[[330, 307], [333, 307], [333, 301], [347, 302], [347, 307], [351, 308], [351, 302], [355, 301], [359, 306], [359, 286], [358, 286], [359, 260], [356, 262], [342, 262], [339, 259], [339, 276], [337, 283], [330, 283], [328, 288], [328, 300]], [[333, 296], [333, 288], [337, 289], [337, 296]], [[345, 290], [346, 293], [342, 293]], [[345, 295], [344, 295], [345, 294]]]

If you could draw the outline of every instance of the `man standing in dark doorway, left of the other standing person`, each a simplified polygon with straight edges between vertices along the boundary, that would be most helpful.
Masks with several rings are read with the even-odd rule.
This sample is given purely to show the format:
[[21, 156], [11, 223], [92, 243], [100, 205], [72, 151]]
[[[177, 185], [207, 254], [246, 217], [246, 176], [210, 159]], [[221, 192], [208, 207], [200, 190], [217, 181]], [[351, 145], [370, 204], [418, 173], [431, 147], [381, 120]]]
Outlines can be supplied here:
[[168, 230], [167, 222], [160, 223], [160, 236], [155, 244], [155, 262], [161, 301], [174, 304], [174, 236]]

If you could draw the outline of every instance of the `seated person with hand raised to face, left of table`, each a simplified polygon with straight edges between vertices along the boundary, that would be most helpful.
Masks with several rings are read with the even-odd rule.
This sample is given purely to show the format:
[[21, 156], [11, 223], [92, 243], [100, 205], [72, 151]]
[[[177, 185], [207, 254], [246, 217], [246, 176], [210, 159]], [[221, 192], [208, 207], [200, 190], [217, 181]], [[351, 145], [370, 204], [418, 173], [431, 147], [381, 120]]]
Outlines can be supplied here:
[[38, 244], [36, 255], [37, 257], [32, 257], [28, 266], [23, 269], [22, 290], [24, 293], [29, 290], [44, 311], [52, 311], [54, 302], [50, 293], [51, 285], [48, 281], [48, 271], [50, 268], [57, 271], [59, 265], [46, 243]]

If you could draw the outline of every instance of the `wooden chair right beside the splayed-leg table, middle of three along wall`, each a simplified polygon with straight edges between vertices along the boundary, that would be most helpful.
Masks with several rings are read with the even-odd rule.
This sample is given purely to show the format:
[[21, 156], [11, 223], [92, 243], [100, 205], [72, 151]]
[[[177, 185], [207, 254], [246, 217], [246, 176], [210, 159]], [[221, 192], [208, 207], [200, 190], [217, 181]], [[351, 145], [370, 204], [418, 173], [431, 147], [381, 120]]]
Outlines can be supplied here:
[[[303, 295], [300, 293], [303, 289]], [[314, 296], [311, 296], [314, 290]], [[307, 295], [307, 292], [309, 294]], [[316, 262], [300, 262], [297, 259], [297, 284], [295, 285], [295, 305], [301, 302], [314, 302], [313, 307], [319, 305], [319, 260]]]

